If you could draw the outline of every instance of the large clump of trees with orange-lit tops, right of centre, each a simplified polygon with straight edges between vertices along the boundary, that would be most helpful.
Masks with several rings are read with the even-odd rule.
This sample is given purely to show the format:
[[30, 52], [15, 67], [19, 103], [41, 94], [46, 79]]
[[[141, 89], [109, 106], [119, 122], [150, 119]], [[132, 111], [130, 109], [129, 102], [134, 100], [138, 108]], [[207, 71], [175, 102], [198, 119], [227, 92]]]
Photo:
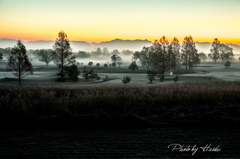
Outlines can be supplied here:
[[[164, 72], [167, 70], [178, 70], [181, 65], [185, 65], [186, 70], [190, 70], [200, 63], [195, 42], [191, 36], [184, 38], [181, 53], [180, 49], [181, 47], [176, 37], [169, 43], [168, 39], [163, 36], [160, 40], [156, 40], [152, 46], [143, 47], [140, 52], [136, 51], [132, 60], [135, 62], [139, 61], [147, 69], [152, 67], [161, 72], [161, 79], [163, 80]], [[153, 78], [151, 77], [151, 79]]]

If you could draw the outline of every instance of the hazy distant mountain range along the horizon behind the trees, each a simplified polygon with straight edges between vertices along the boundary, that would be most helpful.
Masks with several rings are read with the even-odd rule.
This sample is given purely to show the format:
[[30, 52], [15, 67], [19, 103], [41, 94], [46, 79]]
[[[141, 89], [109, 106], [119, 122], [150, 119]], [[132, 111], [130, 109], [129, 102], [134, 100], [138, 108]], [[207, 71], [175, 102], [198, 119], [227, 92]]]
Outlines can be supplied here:
[[[15, 39], [0, 39], [0, 48], [13, 47], [16, 45]], [[28, 41], [23, 42], [26, 48], [29, 49], [52, 49], [55, 41]], [[152, 44], [149, 40], [121, 40], [115, 39], [111, 41], [105, 41], [100, 43], [89, 44], [85, 41], [70, 41], [71, 47], [74, 52], [79, 50], [90, 52], [97, 48], [107, 47], [109, 51], [114, 49], [140, 51], [144, 46], [150, 46]], [[198, 52], [209, 53], [212, 43], [209, 42], [196, 42]], [[233, 48], [235, 54], [240, 54], [240, 46], [235, 44], [228, 44]]]

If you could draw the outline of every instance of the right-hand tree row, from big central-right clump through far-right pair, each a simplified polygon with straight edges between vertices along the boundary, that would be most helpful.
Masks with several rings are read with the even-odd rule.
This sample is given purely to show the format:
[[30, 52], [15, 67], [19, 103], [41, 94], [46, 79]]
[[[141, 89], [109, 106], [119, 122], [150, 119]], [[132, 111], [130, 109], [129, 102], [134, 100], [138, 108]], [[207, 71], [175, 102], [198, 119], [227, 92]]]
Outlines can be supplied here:
[[[208, 57], [215, 63], [218, 59], [229, 62], [233, 58], [233, 49], [227, 44], [221, 44], [218, 38], [215, 38]], [[206, 60], [207, 56], [204, 53], [199, 53], [196, 49], [196, 44], [192, 36], [186, 36], [180, 45], [179, 40], [174, 37], [171, 42], [166, 36], [159, 40], [155, 40], [152, 46], [143, 47], [141, 51], [136, 51], [132, 57], [132, 65], [140, 62], [143, 67], [150, 67], [162, 73], [164, 79], [165, 71], [176, 70], [178, 72], [181, 66], [185, 67], [186, 71], [200, 64], [200, 61]]]

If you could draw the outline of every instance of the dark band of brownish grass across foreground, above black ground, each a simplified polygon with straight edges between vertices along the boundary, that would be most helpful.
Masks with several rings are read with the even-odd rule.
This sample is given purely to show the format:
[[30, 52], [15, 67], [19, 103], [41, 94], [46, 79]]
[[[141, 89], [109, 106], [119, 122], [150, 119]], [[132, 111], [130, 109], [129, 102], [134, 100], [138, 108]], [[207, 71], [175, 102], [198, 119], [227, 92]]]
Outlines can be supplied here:
[[[240, 123], [240, 83], [167, 86], [3, 86], [5, 126], [145, 126]], [[10, 123], [10, 124], [9, 124]]]

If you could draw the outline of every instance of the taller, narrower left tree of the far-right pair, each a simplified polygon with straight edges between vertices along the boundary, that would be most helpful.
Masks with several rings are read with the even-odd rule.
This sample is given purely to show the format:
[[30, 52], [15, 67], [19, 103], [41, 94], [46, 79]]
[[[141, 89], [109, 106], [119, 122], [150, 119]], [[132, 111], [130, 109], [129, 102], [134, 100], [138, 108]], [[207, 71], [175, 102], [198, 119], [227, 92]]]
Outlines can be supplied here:
[[212, 48], [210, 49], [210, 53], [208, 54], [208, 57], [211, 58], [215, 64], [217, 60], [220, 58], [220, 41], [218, 38], [215, 38], [212, 43]]

